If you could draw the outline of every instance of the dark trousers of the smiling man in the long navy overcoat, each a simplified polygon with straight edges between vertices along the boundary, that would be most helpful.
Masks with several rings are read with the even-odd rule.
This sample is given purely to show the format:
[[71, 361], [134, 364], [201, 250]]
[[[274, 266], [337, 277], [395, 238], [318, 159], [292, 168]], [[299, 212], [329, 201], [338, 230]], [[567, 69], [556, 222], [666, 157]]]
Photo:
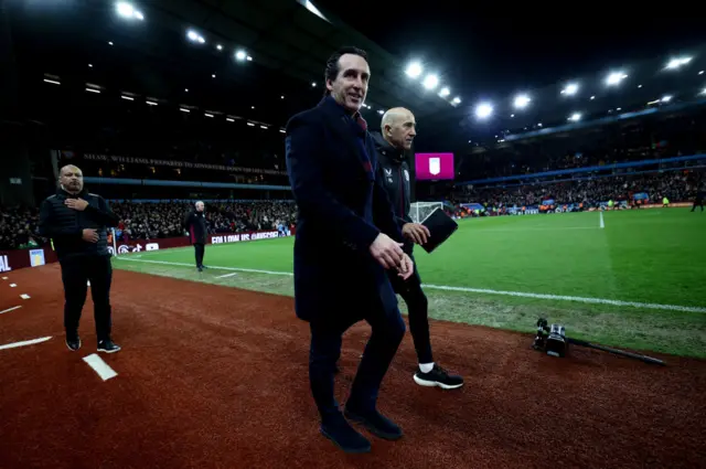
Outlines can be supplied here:
[[[323, 424], [340, 418], [333, 393], [335, 364], [341, 356], [343, 333], [361, 320], [353, 316], [344, 318], [310, 322], [309, 381]], [[355, 374], [349, 403], [365, 411], [376, 407], [379, 386], [405, 335], [405, 322], [397, 308], [367, 311], [362, 319], [371, 326], [372, 334]]]

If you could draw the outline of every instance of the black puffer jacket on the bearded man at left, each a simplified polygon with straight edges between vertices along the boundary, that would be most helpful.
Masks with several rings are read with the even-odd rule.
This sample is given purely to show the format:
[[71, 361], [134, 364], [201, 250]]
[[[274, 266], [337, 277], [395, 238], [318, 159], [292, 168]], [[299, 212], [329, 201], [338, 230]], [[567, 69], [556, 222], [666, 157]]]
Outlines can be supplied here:
[[[88, 202], [84, 211], [67, 207], [66, 199], [83, 199]], [[60, 189], [42, 202], [40, 207], [41, 236], [52, 238], [60, 260], [73, 256], [108, 256], [108, 227], [118, 225], [118, 216], [100, 195], [85, 189], [76, 195]], [[84, 230], [96, 230], [98, 242], [83, 239]]]

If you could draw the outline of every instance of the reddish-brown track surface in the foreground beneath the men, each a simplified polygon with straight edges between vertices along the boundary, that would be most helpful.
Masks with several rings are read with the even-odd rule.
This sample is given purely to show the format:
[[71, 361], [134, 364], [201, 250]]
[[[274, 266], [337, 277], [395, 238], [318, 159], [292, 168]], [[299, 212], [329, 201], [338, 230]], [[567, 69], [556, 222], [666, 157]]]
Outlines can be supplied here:
[[[2, 469], [706, 467], [704, 361], [655, 354], [659, 367], [578, 348], [553, 359], [531, 350], [532, 323], [434, 322], [438, 360], [467, 385], [417, 386], [407, 334], [379, 402], [406, 436], [368, 435], [373, 452], [349, 456], [318, 433], [291, 298], [116, 270], [122, 351], [101, 354], [118, 373], [104, 382], [82, 360], [96, 351], [90, 299], [69, 352], [57, 266], [3, 276], [0, 311], [23, 308], [0, 315], [0, 344], [53, 338], [0, 350]], [[341, 402], [368, 332], [344, 339]]]

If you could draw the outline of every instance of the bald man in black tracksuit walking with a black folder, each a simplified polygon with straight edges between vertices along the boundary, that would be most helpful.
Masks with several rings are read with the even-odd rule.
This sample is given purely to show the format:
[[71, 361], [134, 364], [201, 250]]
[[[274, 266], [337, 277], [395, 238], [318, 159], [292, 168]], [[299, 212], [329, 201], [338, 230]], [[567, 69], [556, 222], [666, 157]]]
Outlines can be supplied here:
[[409, 331], [415, 342], [419, 367], [414, 380], [421, 386], [439, 386], [453, 390], [463, 385], [461, 376], [449, 375], [434, 362], [429, 339], [428, 301], [421, 289], [421, 279], [414, 260], [413, 247], [424, 244], [429, 230], [420, 223], [414, 223], [409, 216], [410, 180], [406, 153], [417, 135], [415, 116], [405, 108], [389, 109], [383, 116], [382, 132], [374, 132], [373, 140], [378, 158], [377, 177], [383, 182], [393, 205], [395, 220], [406, 238], [404, 251], [413, 259], [415, 271], [407, 280], [391, 275], [395, 292], [403, 297], [408, 308]]

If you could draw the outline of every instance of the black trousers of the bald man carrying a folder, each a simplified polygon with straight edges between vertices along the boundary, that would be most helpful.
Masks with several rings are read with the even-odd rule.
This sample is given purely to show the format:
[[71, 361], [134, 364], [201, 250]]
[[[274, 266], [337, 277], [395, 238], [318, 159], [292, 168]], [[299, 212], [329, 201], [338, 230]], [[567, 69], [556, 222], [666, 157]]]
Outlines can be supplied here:
[[[414, 257], [409, 256], [414, 262]], [[431, 354], [431, 340], [429, 338], [429, 301], [421, 289], [421, 278], [415, 263], [415, 271], [407, 280], [403, 280], [397, 270], [387, 270], [391, 284], [395, 292], [398, 294], [407, 305], [409, 332], [417, 351], [417, 360], [419, 363], [431, 363], [434, 356]]]

